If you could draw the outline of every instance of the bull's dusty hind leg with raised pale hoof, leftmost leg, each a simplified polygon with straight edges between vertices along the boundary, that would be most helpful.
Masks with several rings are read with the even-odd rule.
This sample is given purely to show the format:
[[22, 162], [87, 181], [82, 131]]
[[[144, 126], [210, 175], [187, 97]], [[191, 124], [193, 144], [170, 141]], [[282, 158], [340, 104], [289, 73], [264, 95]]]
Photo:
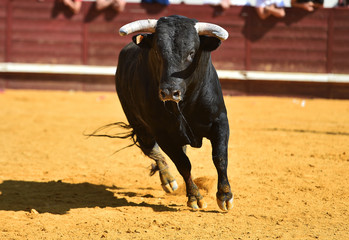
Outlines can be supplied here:
[[167, 193], [171, 193], [178, 188], [176, 179], [172, 176], [169, 171], [169, 167], [165, 162], [164, 156], [161, 154], [159, 146], [155, 143], [148, 156], [155, 160], [156, 165], [152, 165], [150, 175], [154, 175], [159, 171], [161, 186]]

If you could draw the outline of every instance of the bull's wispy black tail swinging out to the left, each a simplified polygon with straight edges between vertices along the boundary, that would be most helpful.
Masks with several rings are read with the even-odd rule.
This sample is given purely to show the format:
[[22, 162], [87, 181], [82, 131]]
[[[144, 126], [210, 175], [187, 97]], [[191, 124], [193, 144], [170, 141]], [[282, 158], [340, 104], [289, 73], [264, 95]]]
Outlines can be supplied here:
[[[124, 129], [125, 131], [123, 132], [113, 132], [116, 128], [120, 129]], [[94, 132], [90, 133], [90, 134], [84, 134], [87, 137], [108, 137], [108, 138], [119, 138], [119, 139], [131, 139], [133, 143], [131, 143], [130, 145], [123, 147], [117, 151], [115, 151], [115, 153], [132, 147], [134, 145], [139, 146], [138, 140], [137, 140], [137, 135], [134, 131], [134, 129], [131, 127], [131, 125], [124, 123], [124, 122], [116, 122], [116, 123], [110, 123], [107, 124], [105, 126], [102, 126], [100, 128], [98, 128], [97, 130], [95, 130]]]

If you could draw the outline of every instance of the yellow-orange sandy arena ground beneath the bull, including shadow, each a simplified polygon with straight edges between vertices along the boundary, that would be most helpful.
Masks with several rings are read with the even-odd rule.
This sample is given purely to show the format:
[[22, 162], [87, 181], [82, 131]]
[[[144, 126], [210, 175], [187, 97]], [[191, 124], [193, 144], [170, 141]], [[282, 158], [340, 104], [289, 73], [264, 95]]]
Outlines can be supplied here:
[[349, 101], [226, 97], [234, 208], [216, 205], [208, 141], [188, 148], [208, 208], [166, 194], [128, 140], [116, 94], [0, 93], [0, 239], [349, 239]]

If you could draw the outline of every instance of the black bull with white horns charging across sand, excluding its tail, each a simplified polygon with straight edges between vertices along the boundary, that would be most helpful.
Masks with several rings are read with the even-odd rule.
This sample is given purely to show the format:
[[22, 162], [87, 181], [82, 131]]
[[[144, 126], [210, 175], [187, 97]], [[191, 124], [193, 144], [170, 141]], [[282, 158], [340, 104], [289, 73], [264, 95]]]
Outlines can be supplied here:
[[207, 204], [192, 180], [185, 146], [199, 148], [204, 137], [211, 141], [218, 172], [217, 203], [222, 210], [229, 210], [233, 207], [227, 177], [229, 125], [211, 62], [211, 51], [228, 34], [217, 25], [200, 24], [170, 16], [122, 27], [121, 35], [150, 33], [135, 35], [120, 52], [116, 90], [135, 143], [156, 162], [153, 173], [159, 170], [165, 191], [177, 189], [160, 146], [182, 175], [188, 206], [193, 209]]

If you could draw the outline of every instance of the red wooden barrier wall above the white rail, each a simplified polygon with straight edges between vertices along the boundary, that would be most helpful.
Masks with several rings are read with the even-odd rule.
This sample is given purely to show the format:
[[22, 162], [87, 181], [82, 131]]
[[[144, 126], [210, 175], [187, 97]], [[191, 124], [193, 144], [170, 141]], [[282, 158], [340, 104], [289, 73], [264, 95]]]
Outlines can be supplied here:
[[124, 24], [172, 14], [212, 22], [230, 37], [213, 53], [218, 69], [349, 73], [349, 10], [286, 9], [286, 18], [260, 20], [252, 7], [217, 15], [208, 5], [128, 3], [121, 14], [98, 12], [93, 2], [72, 15], [54, 0], [0, 0], [0, 61], [112, 65], [130, 37]]

